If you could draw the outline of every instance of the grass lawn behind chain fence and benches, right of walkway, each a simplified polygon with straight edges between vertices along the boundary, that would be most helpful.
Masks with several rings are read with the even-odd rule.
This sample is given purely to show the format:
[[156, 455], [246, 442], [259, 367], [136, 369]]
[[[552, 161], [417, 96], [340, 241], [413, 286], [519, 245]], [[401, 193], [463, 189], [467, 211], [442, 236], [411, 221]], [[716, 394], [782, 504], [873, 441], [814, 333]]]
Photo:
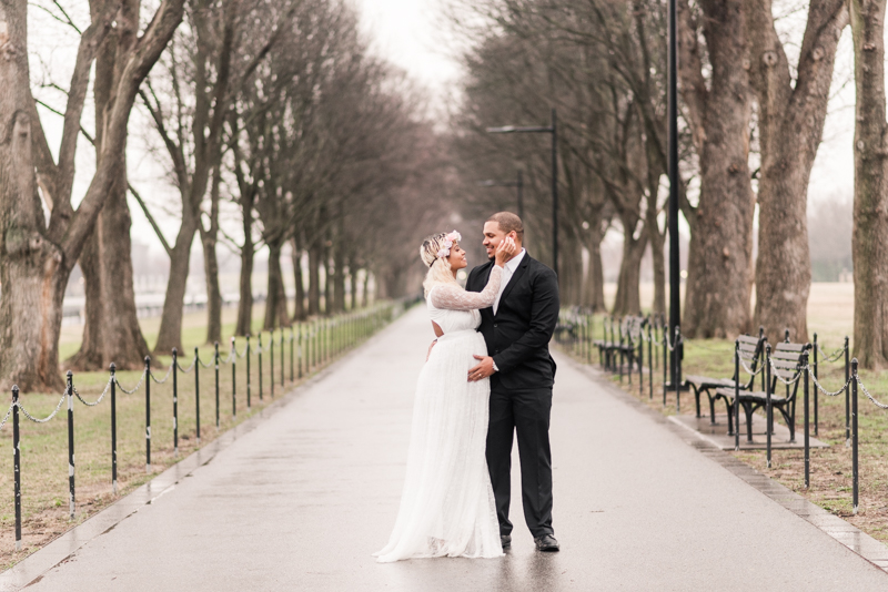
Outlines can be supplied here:
[[[643, 299], [643, 302], [649, 302], [649, 299]], [[808, 300], [808, 330], [811, 338], [815, 331], [818, 334], [818, 343], [825, 353], [831, 354], [841, 347], [845, 336], [851, 334], [852, 321], [852, 284], [814, 284], [811, 286]], [[594, 338], [601, 338], [601, 334], [602, 318], [596, 318]], [[851, 347], [852, 345], [851, 341]], [[734, 374], [733, 355], [734, 341], [727, 339], [687, 340], [683, 374], [730, 377]], [[647, 351], [645, 351], [645, 356], [647, 356]], [[647, 374], [645, 374], [644, 396], [638, 392], [637, 375], [633, 379], [632, 387], [625, 380], [622, 386], [650, 407], [665, 415], [673, 415], [676, 412], [675, 392], [668, 392], [666, 405], [663, 405], [662, 351], [659, 360], [660, 365], [654, 372], [653, 400], [648, 399]], [[597, 364], [597, 361], [596, 353], [593, 355], [593, 364]], [[859, 375], [877, 399], [888, 402], [888, 371], [860, 370]], [[821, 363], [819, 377], [828, 390], [840, 388], [845, 384], [844, 359], [833, 364]], [[612, 380], [619, 381], [616, 376], [613, 376]], [[862, 392], [859, 394], [860, 506], [858, 514], [854, 516], [851, 511], [851, 449], [846, 447], [845, 442], [845, 396], [844, 394], [838, 397], [820, 395], [818, 400], [818, 438], [828, 443], [829, 448], [811, 450], [810, 489], [805, 488], [801, 450], [774, 450], [770, 469], [767, 468], [765, 450], [731, 453], [759, 472], [805, 496], [811, 502], [845, 518], [874, 538], [888, 542], [888, 410], [878, 408]], [[811, 399], [811, 421], [813, 405]], [[708, 414], [708, 402], [705, 396], [702, 406], [703, 414]], [[722, 404], [720, 410], [724, 412], [724, 404]], [[693, 392], [682, 394], [682, 412], [695, 412]], [[800, 439], [804, 429], [804, 407], [800, 398], [796, 408], [796, 433]], [[775, 421], [783, 422], [783, 418], [776, 411]], [[741, 429], [744, 429], [743, 426]], [[813, 432], [814, 428], [811, 427]]]

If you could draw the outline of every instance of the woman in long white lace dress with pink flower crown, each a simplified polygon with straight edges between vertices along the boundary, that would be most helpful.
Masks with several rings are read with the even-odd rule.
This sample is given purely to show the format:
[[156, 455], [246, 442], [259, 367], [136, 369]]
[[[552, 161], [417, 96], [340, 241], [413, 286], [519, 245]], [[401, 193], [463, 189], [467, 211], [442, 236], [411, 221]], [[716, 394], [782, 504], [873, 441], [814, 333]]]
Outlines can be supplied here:
[[423, 284], [438, 338], [420, 372], [407, 474], [394, 530], [380, 562], [411, 558], [503, 555], [491, 478], [484, 457], [490, 379], [468, 381], [474, 355], [486, 356], [478, 309], [500, 292], [503, 264], [516, 251], [503, 241], [487, 286], [465, 292], [455, 279], [466, 266], [460, 234], [430, 236], [420, 247], [428, 266]]

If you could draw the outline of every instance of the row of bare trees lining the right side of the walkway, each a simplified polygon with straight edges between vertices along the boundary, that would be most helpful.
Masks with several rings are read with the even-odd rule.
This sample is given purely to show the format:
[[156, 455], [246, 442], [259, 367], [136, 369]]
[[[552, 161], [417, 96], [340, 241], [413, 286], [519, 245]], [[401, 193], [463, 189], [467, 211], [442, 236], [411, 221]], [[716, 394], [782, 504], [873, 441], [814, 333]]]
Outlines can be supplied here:
[[[683, 333], [725, 337], [764, 325], [808, 336], [807, 191], [836, 51], [855, 48], [855, 348], [888, 364], [885, 0], [677, 0], [680, 211], [690, 229]], [[601, 242], [624, 237], [615, 314], [637, 313], [638, 268], [654, 261], [665, 308], [666, 0], [452, 2], [471, 50], [457, 151], [467, 177], [527, 171], [535, 248], [547, 252], [547, 154], [488, 125], [561, 119], [563, 298], [604, 309]], [[850, 10], [849, 10], [850, 7]], [[466, 18], [472, 14], [473, 18]], [[481, 17], [481, 18], [477, 18]], [[780, 19], [783, 17], [783, 19]], [[796, 22], [787, 29], [785, 22]], [[754, 215], [758, 207], [757, 261]], [[589, 254], [583, 269], [582, 252]], [[549, 255], [551, 256], [551, 255]], [[751, 287], [756, 304], [751, 308]]]

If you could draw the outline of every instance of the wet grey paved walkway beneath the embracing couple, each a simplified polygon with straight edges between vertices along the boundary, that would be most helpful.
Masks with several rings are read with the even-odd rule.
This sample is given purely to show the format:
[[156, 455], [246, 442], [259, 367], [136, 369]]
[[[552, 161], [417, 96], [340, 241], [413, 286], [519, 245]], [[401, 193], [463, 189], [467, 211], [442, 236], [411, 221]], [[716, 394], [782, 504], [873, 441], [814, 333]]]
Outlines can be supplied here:
[[516, 482], [506, 558], [375, 563], [431, 334], [412, 310], [29, 591], [888, 589], [888, 574], [566, 359], [552, 423], [563, 551], [533, 550]]

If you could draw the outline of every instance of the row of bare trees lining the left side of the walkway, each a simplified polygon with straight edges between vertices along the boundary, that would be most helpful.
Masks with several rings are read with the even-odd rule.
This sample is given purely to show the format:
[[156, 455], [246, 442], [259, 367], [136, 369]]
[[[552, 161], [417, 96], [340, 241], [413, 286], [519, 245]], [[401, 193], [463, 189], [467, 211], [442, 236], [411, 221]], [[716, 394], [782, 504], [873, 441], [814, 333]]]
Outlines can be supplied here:
[[[241, 258], [241, 335], [250, 330], [251, 276], [261, 248], [270, 254], [268, 329], [343, 310], [346, 302], [360, 305], [357, 285], [364, 283], [366, 297], [371, 275], [382, 296], [404, 289], [420, 238], [414, 234], [422, 232], [416, 223], [437, 213], [434, 201], [422, 203], [413, 192], [434, 191], [442, 159], [416, 93], [369, 53], [351, 4], [90, 0], [85, 25], [68, 8], [0, 0], [0, 388], [61, 388], [62, 298], [75, 264], [87, 314], [81, 349], [69, 366], [98, 369], [113, 360], [118, 368], [141, 367], [149, 348], [134, 304], [130, 203], [170, 258], [160, 353], [181, 348], [195, 238], [210, 343], [221, 340], [220, 247]], [[34, 92], [28, 53], [40, 39], [29, 38], [29, 10], [77, 32], [63, 105]], [[91, 130], [85, 104], [94, 105]], [[47, 116], [64, 121], [52, 150], [41, 121]], [[153, 192], [128, 177], [131, 119], [150, 122], [132, 137], [164, 167], [175, 203], [150, 197]], [[87, 193], [75, 196], [83, 139], [94, 147], [95, 169]], [[174, 237], [157, 220], [161, 208], [178, 214]], [[309, 278], [307, 294], [295, 283], [295, 310], [287, 308], [283, 283], [287, 244], [286, 264], [296, 278]]]

